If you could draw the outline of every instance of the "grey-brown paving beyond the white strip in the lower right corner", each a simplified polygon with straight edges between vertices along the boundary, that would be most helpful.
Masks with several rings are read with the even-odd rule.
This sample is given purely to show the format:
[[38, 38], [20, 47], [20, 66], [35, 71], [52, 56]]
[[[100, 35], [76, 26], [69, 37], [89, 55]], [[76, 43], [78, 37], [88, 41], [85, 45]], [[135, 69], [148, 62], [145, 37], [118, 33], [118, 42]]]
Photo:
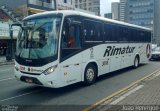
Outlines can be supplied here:
[[[118, 105], [160, 105], [160, 76], [143, 83], [142, 88], [117, 103]], [[160, 110], [160, 109], [159, 109]]]

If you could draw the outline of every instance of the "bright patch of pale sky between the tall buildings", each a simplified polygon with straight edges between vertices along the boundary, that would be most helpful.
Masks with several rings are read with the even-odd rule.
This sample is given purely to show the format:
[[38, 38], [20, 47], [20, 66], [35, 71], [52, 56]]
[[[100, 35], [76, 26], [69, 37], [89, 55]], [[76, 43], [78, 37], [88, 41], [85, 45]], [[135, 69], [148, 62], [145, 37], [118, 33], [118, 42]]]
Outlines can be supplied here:
[[101, 15], [111, 12], [111, 2], [119, 2], [119, 0], [100, 0]]

